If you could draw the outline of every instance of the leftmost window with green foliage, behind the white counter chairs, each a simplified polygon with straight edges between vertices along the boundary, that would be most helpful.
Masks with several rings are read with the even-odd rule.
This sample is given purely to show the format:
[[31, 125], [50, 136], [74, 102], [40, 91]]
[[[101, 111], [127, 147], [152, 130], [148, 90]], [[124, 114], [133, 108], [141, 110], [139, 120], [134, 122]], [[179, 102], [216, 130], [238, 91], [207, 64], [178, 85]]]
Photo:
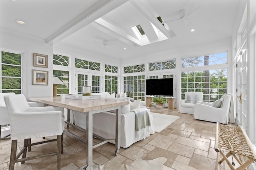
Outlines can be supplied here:
[[1, 52], [1, 93], [21, 94], [21, 55]]

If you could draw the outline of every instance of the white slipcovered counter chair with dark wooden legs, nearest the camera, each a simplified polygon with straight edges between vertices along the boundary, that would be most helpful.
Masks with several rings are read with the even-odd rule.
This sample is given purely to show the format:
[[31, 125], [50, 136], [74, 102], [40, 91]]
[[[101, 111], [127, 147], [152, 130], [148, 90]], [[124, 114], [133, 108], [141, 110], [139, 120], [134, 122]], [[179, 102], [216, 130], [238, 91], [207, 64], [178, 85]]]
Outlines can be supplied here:
[[[14, 169], [16, 162], [57, 155], [57, 168], [60, 170], [60, 154], [63, 147], [64, 109], [61, 107], [30, 107], [23, 94], [6, 95], [4, 101], [11, 126], [11, 154], [9, 170]], [[39, 156], [26, 157], [28, 147], [56, 140], [29, 143], [29, 139], [57, 135], [57, 152]], [[17, 141], [24, 139], [24, 147], [16, 158]], [[19, 158], [20, 155], [22, 158]]]

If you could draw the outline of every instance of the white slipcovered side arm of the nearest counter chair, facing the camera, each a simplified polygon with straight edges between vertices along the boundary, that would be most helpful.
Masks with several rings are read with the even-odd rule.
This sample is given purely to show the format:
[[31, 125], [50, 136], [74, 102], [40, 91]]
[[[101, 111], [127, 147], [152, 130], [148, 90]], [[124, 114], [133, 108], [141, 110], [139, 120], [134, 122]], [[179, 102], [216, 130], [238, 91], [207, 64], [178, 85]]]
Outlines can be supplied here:
[[64, 117], [61, 111], [10, 113], [11, 139], [29, 139], [61, 135]]

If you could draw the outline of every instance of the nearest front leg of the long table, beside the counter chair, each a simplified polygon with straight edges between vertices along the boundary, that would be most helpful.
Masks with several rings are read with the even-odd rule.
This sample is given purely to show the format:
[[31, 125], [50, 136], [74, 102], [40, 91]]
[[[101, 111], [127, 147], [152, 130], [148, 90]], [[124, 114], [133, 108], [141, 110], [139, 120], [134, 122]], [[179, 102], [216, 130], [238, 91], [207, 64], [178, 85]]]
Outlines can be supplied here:
[[92, 164], [92, 114], [86, 112], [86, 164]]

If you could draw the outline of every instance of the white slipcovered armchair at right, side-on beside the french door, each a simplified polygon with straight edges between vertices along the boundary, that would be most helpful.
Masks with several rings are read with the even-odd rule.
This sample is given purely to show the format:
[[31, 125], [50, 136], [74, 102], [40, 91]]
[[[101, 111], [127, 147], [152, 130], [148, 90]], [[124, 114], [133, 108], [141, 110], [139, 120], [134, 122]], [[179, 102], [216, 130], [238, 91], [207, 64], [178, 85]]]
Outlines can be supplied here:
[[195, 104], [194, 118], [204, 121], [228, 124], [230, 116], [230, 104], [230, 95], [226, 95], [224, 97], [220, 108], [213, 107], [213, 104], [208, 102]]

